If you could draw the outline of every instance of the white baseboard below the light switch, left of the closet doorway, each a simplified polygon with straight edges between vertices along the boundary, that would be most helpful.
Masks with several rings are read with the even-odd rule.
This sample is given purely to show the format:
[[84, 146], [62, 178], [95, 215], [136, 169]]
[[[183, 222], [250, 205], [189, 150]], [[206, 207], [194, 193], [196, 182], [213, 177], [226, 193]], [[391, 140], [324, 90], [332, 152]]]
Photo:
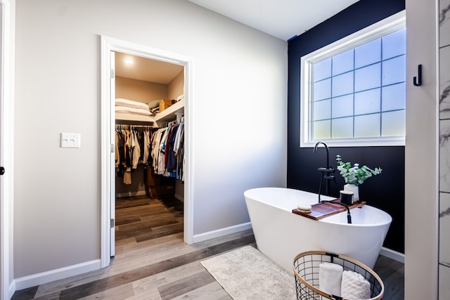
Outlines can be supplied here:
[[15, 285], [14, 291], [26, 289], [28, 287], [34, 287], [36, 285], [43, 285], [44, 283], [87, 273], [92, 270], [98, 270], [100, 266], [101, 266], [100, 259], [96, 259], [94, 261], [86, 261], [85, 263], [78, 263], [73, 266], [67, 266], [64, 268], [49, 270], [42, 273], [27, 275], [14, 280], [15, 281], [13, 283], [13, 285]]

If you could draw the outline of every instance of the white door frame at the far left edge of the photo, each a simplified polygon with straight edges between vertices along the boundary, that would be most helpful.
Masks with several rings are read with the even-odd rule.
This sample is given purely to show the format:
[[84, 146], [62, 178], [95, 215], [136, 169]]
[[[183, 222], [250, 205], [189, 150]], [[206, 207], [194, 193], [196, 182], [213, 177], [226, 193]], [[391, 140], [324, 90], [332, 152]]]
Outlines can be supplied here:
[[13, 178], [14, 178], [14, 53], [13, 53], [13, 14], [11, 13], [11, 1], [0, 0], [1, 6], [1, 82], [0, 82], [0, 164], [6, 169], [4, 176], [0, 178], [0, 291], [1, 299], [11, 299], [15, 292], [13, 282], [13, 259], [11, 259], [12, 243], [10, 233], [12, 232], [11, 216], [13, 206]]

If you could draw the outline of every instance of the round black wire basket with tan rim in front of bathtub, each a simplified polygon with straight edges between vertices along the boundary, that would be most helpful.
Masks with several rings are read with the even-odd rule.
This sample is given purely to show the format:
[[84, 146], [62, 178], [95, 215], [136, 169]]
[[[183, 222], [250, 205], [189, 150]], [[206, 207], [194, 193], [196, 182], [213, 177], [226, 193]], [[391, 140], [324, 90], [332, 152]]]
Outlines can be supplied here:
[[328, 294], [319, 289], [319, 265], [324, 262], [337, 263], [344, 270], [351, 270], [363, 275], [371, 284], [370, 300], [379, 300], [383, 297], [385, 291], [383, 281], [378, 277], [377, 273], [373, 272], [364, 263], [350, 259], [345, 255], [323, 251], [308, 251], [298, 254], [294, 259], [293, 269], [297, 300], [345, 300], [341, 296]]

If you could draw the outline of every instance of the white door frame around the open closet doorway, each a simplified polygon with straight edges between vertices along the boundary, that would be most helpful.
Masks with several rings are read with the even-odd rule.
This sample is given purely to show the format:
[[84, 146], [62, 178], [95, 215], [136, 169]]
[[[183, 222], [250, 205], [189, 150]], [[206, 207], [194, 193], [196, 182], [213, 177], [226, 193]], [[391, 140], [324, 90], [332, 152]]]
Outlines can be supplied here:
[[184, 116], [185, 116], [185, 184], [184, 184], [184, 242], [193, 243], [193, 155], [192, 128], [192, 68], [193, 60], [176, 53], [169, 53], [157, 48], [134, 44], [111, 37], [101, 36], [101, 268], [110, 264], [110, 203], [111, 181], [115, 180], [114, 166], [110, 163], [113, 155], [113, 133], [115, 115], [113, 101], [110, 100], [110, 51], [129, 53], [153, 60], [184, 66]]

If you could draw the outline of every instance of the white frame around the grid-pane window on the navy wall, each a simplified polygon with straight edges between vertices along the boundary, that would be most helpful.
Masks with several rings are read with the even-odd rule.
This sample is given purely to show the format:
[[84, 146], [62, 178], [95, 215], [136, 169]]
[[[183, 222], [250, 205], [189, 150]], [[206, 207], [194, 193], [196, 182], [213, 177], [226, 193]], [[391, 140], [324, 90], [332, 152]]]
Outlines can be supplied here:
[[[311, 77], [312, 65], [318, 61], [325, 60], [339, 53], [365, 44], [373, 39], [378, 39], [386, 34], [390, 34], [406, 27], [406, 13], [401, 11], [395, 15], [376, 22], [363, 30], [335, 41], [323, 48], [302, 56], [300, 62], [300, 147], [314, 147], [319, 140], [309, 141], [311, 134], [310, 120], [310, 99], [311, 99]], [[390, 146], [405, 145], [404, 136], [377, 137], [377, 138], [347, 138], [347, 139], [322, 139], [328, 146], [355, 147], [355, 146]]]

